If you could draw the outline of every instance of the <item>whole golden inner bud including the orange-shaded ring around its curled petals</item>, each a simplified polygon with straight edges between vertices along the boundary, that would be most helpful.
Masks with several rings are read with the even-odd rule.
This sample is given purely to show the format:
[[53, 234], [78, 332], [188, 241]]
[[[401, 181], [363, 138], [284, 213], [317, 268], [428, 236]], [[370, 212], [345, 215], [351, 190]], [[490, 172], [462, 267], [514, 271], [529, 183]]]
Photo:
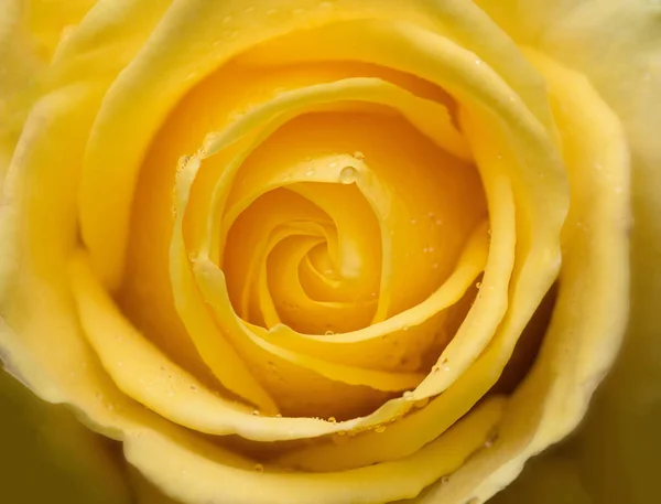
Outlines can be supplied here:
[[[219, 83], [231, 99], [216, 98], [203, 111]], [[312, 105], [292, 112], [286, 100], [295, 104], [301, 89], [312, 89]], [[128, 281], [118, 298], [175, 362], [213, 384], [213, 365], [205, 363], [208, 373], [195, 352], [195, 333], [209, 335], [196, 328], [193, 312], [180, 309], [184, 326], [165, 319], [164, 328], [163, 318], [150, 314], [172, 310], [167, 304], [176, 299], [165, 289], [144, 296], [145, 286], [172, 275], [171, 257], [144, 256], [148, 244], [170, 238], [154, 226], [172, 204], [166, 182], [159, 182], [173, 176], [163, 158], [194, 151], [186, 130], [199, 129], [201, 119], [231, 128], [252, 120], [260, 103], [279, 99], [290, 117], [267, 115], [256, 129], [268, 135], [257, 142], [239, 137], [218, 148], [226, 132], [205, 133], [201, 152], [214, 156], [188, 179], [186, 207], [175, 204], [185, 211], [182, 246], [194, 269], [206, 268], [198, 270], [198, 289], [220, 332], [252, 339], [242, 358], [282, 415], [369, 415], [437, 367], [456, 329], [448, 321], [467, 312], [485, 266], [480, 176], [457, 129], [455, 100], [430, 82], [359, 63], [283, 66], [259, 76], [228, 64], [189, 93], [153, 142], [138, 184]], [[189, 160], [178, 162], [180, 184]], [[158, 248], [172, 253], [172, 246]], [[201, 250], [206, 259], [198, 262]], [[173, 287], [175, 297], [186, 291], [176, 281]], [[183, 343], [188, 335], [195, 348]], [[322, 376], [300, 379], [301, 368]]]

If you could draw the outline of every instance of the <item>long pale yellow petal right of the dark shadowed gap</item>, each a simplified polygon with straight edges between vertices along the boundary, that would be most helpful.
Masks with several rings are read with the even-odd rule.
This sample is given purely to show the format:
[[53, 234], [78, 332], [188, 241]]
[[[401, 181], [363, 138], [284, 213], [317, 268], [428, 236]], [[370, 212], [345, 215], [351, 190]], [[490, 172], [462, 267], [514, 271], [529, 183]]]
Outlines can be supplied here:
[[[583, 76], [527, 54], [550, 83], [575, 194], [563, 228], [559, 297], [538, 362], [501, 425], [495, 447], [503, 462], [478, 454], [423, 503], [488, 498], [530, 455], [574, 429], [615, 360], [627, 321], [629, 158], [621, 125]], [[583, 114], [574, 114], [576, 107]]]

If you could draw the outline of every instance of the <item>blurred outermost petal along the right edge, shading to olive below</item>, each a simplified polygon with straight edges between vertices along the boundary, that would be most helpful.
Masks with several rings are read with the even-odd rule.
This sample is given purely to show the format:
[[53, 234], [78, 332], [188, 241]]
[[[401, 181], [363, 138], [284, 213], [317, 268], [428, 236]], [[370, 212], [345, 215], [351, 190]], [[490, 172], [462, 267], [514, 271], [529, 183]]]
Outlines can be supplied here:
[[[593, 502], [657, 498], [654, 464], [661, 450], [661, 3], [647, 0], [479, 0], [514, 40], [539, 47], [584, 74], [622, 124], [631, 152], [631, 313], [613, 373], [567, 452], [549, 464], [572, 464]], [[522, 478], [553, 474], [543, 461]], [[563, 470], [564, 471], [564, 470]], [[502, 503], [520, 502], [517, 489]], [[575, 485], [570, 485], [575, 486]], [[564, 485], [548, 485], [564, 498]], [[584, 490], [578, 491], [583, 493]], [[530, 495], [530, 493], [527, 493]], [[553, 497], [553, 495], [556, 495]], [[576, 497], [579, 498], [579, 497]], [[581, 502], [581, 501], [577, 501]]]

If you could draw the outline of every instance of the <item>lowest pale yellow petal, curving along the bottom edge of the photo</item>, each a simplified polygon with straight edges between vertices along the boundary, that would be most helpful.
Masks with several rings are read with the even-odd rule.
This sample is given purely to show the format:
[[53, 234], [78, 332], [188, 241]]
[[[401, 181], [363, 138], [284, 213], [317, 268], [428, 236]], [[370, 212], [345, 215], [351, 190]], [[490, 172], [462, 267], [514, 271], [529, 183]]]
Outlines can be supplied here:
[[499, 420], [503, 401], [483, 405], [442, 438], [393, 462], [344, 472], [305, 474], [254, 464], [184, 436], [152, 431], [127, 440], [124, 453], [167, 495], [192, 502], [232, 504], [368, 504], [416, 496], [452, 473], [484, 446]]

